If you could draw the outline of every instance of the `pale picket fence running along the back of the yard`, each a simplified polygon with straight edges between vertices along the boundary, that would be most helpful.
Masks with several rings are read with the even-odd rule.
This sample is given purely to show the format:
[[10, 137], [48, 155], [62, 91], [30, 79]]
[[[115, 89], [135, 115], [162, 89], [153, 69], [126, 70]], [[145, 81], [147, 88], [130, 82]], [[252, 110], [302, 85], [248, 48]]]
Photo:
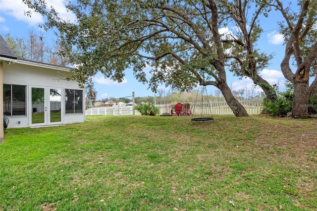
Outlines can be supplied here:
[[[248, 114], [261, 114], [263, 109], [262, 100], [239, 101], [245, 107]], [[204, 102], [188, 103], [192, 105], [191, 114], [193, 115], [231, 115], [233, 114], [230, 107], [225, 101], [222, 102]], [[170, 113], [175, 104], [159, 104], [160, 114]], [[112, 107], [94, 107], [86, 110], [86, 115], [133, 115], [132, 106], [112, 106]], [[135, 115], [141, 115], [135, 110]]]

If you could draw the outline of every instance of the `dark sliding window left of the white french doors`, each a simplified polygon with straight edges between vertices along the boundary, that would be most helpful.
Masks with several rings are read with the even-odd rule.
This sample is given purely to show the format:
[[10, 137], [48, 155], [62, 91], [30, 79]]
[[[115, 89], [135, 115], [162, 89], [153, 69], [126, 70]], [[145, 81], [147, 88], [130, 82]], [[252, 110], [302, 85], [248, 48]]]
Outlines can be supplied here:
[[26, 115], [26, 86], [3, 84], [3, 113]]

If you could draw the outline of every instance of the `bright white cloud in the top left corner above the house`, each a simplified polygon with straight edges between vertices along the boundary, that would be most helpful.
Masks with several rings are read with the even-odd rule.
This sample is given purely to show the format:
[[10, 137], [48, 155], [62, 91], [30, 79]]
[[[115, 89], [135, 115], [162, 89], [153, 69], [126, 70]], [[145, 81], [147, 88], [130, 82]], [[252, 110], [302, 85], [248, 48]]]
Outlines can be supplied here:
[[[64, 20], [75, 21], [76, 17], [73, 13], [67, 12], [64, 6], [67, 0], [47, 0], [48, 7], [53, 6], [56, 12], [59, 13], [59, 17]], [[30, 9], [22, 0], [0, 0], [0, 12], [14, 17], [18, 21], [28, 23], [29, 26], [37, 26], [44, 23], [44, 18], [40, 13], [32, 12], [31, 17], [25, 16], [24, 12]]]

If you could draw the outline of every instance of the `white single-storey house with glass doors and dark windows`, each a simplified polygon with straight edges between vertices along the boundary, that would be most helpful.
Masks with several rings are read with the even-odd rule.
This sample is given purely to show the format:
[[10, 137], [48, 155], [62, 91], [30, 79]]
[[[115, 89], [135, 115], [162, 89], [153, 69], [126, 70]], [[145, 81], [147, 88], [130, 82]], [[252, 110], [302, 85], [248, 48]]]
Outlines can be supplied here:
[[68, 74], [67, 67], [17, 58], [0, 36], [0, 118], [8, 117], [8, 128], [85, 121], [84, 89], [63, 79]]

